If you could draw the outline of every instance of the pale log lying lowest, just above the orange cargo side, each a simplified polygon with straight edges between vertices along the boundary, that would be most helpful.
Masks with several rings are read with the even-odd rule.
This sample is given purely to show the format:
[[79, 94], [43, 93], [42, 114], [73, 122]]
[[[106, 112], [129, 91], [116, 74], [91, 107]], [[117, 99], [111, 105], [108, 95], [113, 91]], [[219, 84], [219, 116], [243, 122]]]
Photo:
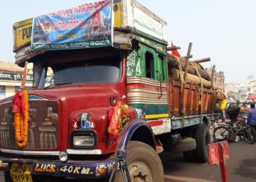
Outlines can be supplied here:
[[[176, 69], [176, 68], [171, 68], [170, 69], [170, 77], [173, 80], [181, 82], [181, 74], [178, 71], [178, 69]], [[200, 77], [192, 75], [192, 74], [187, 74], [187, 82], [193, 82], [195, 85], [198, 85], [198, 86], [200, 86], [200, 83], [201, 83], [200, 82]], [[203, 87], [211, 88], [211, 82], [210, 81], [202, 78], [202, 82], [203, 82]], [[218, 89], [217, 84], [214, 84], [213, 87], [214, 87], [215, 90]]]

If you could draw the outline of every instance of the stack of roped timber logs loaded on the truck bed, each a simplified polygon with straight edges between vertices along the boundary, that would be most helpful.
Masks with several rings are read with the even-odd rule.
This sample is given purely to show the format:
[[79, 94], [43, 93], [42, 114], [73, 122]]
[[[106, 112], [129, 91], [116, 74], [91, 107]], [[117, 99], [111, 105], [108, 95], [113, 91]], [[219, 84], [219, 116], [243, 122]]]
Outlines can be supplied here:
[[[167, 64], [169, 76], [173, 80], [182, 82], [185, 71], [186, 58], [167, 54]], [[200, 74], [200, 76], [198, 74]], [[203, 66], [194, 61], [189, 61], [187, 66], [187, 82], [193, 82], [198, 86], [200, 86], [202, 82], [203, 87], [211, 88], [212, 86], [214, 90], [218, 89], [217, 84], [211, 85], [211, 77], [204, 70]]]

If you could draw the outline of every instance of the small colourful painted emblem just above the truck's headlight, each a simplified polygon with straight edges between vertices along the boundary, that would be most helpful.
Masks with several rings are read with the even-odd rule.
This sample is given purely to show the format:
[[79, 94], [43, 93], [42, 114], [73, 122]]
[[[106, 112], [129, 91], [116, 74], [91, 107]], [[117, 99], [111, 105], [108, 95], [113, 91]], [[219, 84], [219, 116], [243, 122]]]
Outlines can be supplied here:
[[95, 124], [91, 121], [90, 113], [82, 113], [72, 117], [75, 129], [93, 129]]

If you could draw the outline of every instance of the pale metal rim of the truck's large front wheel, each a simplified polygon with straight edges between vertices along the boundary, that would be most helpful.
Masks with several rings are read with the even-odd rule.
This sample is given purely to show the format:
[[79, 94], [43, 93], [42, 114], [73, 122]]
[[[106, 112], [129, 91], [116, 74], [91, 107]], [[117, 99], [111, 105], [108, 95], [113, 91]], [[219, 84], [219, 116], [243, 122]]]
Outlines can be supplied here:
[[150, 168], [145, 162], [132, 162], [128, 166], [129, 175], [132, 182], [152, 182], [152, 173]]

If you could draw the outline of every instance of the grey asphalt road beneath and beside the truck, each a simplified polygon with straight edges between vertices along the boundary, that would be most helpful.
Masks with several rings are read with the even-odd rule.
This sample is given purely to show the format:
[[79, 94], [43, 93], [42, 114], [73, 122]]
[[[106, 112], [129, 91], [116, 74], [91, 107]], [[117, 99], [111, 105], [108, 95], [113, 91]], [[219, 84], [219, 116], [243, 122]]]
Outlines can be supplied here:
[[[230, 159], [227, 161], [229, 181], [256, 181], [256, 143], [250, 145], [245, 141], [228, 143]], [[182, 154], [161, 154], [165, 169], [165, 182], [205, 182], [222, 181], [219, 166], [207, 163], [184, 162]], [[4, 178], [0, 175], [0, 182]]]

